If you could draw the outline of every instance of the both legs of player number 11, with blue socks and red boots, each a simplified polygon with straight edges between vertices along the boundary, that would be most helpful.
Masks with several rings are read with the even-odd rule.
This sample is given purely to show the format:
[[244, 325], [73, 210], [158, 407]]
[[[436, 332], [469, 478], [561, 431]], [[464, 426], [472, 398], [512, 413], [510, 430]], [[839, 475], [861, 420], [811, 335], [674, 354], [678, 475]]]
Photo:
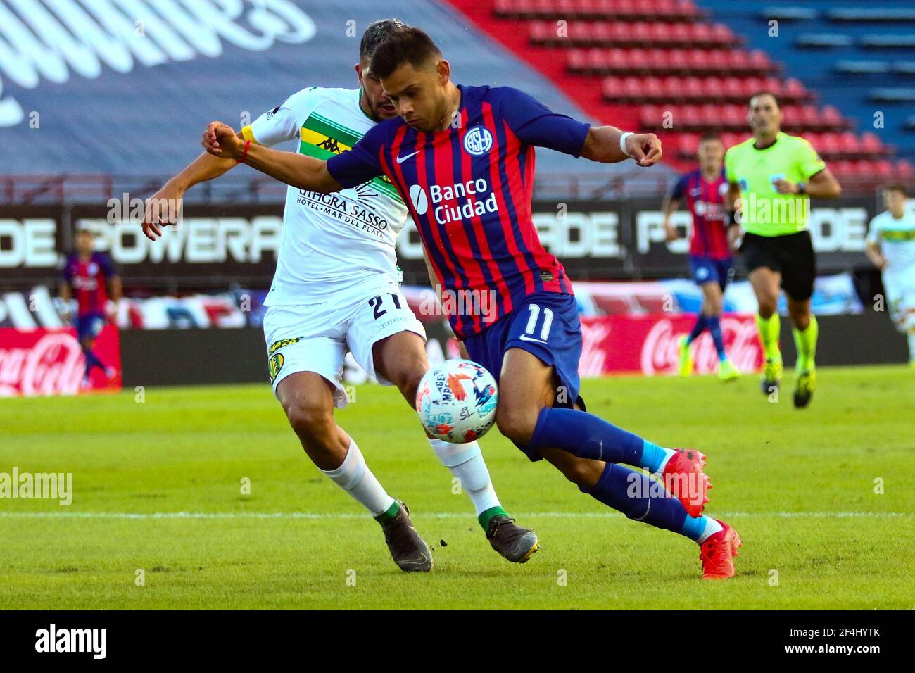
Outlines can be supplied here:
[[[724, 556], [737, 552], [739, 539], [727, 524], [701, 514], [707, 500], [705, 457], [695, 450], [662, 449], [581, 409], [554, 407], [555, 376], [533, 353], [519, 348], [505, 353], [496, 410], [502, 434], [529, 456], [543, 456], [604, 505], [690, 537], [703, 549], [703, 577], [724, 576]], [[622, 462], [650, 469], [660, 481]]]

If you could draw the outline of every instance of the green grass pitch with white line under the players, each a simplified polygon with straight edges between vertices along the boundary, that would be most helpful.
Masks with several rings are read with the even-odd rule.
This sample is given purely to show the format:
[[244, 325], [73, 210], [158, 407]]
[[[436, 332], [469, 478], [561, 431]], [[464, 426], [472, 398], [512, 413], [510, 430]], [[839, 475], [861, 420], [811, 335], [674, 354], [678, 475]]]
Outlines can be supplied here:
[[699, 580], [693, 542], [611, 513], [493, 430], [481, 444], [502, 503], [542, 543], [527, 564], [501, 559], [391, 388], [359, 387], [338, 419], [410, 505], [430, 574], [397, 570], [379, 526], [307, 461], [268, 385], [0, 400], [0, 472], [72, 472], [74, 492], [70, 506], [0, 500], [0, 607], [915, 607], [915, 372], [823, 368], [800, 411], [791, 374], [778, 404], [758, 385], [583, 386], [603, 418], [708, 455], [706, 511], [744, 540], [723, 582]]

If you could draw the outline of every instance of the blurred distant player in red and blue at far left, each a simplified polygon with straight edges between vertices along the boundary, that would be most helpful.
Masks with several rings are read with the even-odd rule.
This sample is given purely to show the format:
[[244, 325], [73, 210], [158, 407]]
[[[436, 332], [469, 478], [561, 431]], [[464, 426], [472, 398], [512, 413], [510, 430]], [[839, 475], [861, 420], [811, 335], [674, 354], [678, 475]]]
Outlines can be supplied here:
[[[80, 340], [82, 354], [86, 358], [86, 371], [82, 376], [82, 387], [89, 387], [89, 378], [93, 367], [105, 373], [109, 383], [117, 371], [102, 360], [93, 350], [95, 340], [102, 333], [102, 328], [117, 315], [117, 305], [121, 301], [121, 277], [114, 268], [111, 257], [97, 253], [95, 236], [90, 229], [76, 232], [73, 252], [67, 255], [64, 263], [58, 294], [63, 305], [63, 319], [70, 322], [70, 298], [76, 298], [76, 335]], [[109, 290], [113, 306], [109, 306]]]

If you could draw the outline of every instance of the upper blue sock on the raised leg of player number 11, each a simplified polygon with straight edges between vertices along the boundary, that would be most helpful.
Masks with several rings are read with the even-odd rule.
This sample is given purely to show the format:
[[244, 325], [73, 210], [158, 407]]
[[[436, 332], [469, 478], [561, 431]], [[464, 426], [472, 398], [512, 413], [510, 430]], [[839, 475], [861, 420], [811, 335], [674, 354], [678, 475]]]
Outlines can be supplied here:
[[642, 440], [587, 411], [544, 407], [533, 429], [531, 449], [562, 449], [579, 458], [625, 462], [657, 472], [667, 450]]

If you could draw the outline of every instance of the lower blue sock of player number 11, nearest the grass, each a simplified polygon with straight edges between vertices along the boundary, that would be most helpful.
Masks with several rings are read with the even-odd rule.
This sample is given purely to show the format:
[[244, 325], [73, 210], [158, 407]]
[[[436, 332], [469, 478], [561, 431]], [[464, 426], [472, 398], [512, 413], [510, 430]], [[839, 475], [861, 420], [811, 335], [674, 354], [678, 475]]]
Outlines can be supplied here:
[[674, 533], [684, 529], [684, 520], [688, 518], [684, 505], [668, 494], [662, 483], [612, 462], [607, 463], [594, 488], [586, 491], [579, 487], [579, 490], [630, 519]]

